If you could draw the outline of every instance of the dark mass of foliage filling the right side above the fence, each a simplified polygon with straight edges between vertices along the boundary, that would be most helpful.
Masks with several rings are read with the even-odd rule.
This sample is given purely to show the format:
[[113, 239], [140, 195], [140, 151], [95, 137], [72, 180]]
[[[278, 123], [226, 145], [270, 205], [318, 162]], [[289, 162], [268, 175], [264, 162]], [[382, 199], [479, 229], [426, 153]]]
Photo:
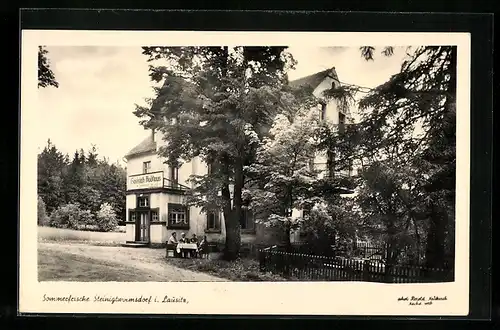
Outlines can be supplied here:
[[[361, 49], [367, 60], [374, 52]], [[400, 72], [359, 101], [361, 121], [351, 132], [323, 138], [326, 149], [342, 140], [354, 144], [349, 157], [363, 169], [358, 214], [371, 234], [389, 243], [394, 259], [402, 251], [420, 259], [425, 249], [429, 267], [442, 267], [453, 255], [456, 56], [453, 46], [407, 48]], [[361, 91], [344, 90], [344, 98]]]

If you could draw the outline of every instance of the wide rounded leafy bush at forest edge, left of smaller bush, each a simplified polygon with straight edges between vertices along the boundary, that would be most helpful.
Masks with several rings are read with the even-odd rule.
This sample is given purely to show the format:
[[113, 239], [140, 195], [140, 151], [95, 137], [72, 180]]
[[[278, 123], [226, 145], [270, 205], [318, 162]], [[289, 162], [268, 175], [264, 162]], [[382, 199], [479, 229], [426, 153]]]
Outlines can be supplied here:
[[78, 229], [93, 222], [93, 214], [89, 210], [80, 209], [79, 204], [60, 206], [50, 216], [50, 226], [56, 228]]

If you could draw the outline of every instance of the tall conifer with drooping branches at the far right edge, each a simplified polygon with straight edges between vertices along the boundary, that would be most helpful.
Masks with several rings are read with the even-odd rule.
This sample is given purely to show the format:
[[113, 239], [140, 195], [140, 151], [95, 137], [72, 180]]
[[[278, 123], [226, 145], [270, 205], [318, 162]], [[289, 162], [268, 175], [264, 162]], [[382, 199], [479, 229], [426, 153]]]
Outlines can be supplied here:
[[[374, 47], [361, 51], [373, 60]], [[395, 173], [412, 168], [421, 178], [413, 188], [413, 196], [418, 196], [413, 204], [424, 208], [428, 221], [426, 264], [438, 268], [446, 264], [447, 254], [453, 254], [454, 245], [457, 50], [425, 46], [407, 51], [400, 72], [359, 102], [362, 119], [356, 125], [355, 157], [367, 168], [375, 163]], [[362, 90], [352, 87], [344, 92], [349, 97], [349, 92]]]

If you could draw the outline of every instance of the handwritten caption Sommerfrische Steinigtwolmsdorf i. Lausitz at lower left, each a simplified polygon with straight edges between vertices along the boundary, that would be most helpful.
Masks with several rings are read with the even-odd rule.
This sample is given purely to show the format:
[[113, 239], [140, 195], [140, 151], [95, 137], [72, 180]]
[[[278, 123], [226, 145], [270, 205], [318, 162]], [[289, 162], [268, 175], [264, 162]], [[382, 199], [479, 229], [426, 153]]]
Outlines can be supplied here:
[[95, 295], [93, 299], [91, 299], [89, 296], [73, 296], [73, 295], [67, 295], [67, 296], [48, 296], [46, 294], [43, 295], [42, 301], [44, 302], [66, 302], [66, 303], [109, 303], [109, 304], [115, 304], [115, 303], [144, 303], [144, 304], [152, 304], [152, 303], [159, 303], [159, 304], [164, 304], [164, 303], [184, 303], [187, 304], [189, 303], [188, 300], [185, 297], [175, 297], [175, 296], [169, 296], [165, 295], [163, 297], [158, 297], [158, 296], [126, 296], [126, 297], [120, 297], [120, 296], [106, 296], [106, 295]]

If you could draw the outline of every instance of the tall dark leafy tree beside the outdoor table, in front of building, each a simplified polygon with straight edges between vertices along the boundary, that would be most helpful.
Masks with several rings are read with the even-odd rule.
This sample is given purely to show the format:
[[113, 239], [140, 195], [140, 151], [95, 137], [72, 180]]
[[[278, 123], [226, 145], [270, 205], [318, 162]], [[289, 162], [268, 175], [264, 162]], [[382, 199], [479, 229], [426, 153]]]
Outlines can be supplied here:
[[171, 165], [200, 157], [210, 174], [192, 177], [190, 203], [222, 209], [224, 256], [238, 257], [243, 217], [244, 166], [252, 163], [254, 134], [266, 135], [277, 113], [289, 112], [294, 93], [286, 71], [295, 62], [286, 47], [144, 47], [156, 97], [135, 114], [146, 128], [163, 133], [160, 155]]

